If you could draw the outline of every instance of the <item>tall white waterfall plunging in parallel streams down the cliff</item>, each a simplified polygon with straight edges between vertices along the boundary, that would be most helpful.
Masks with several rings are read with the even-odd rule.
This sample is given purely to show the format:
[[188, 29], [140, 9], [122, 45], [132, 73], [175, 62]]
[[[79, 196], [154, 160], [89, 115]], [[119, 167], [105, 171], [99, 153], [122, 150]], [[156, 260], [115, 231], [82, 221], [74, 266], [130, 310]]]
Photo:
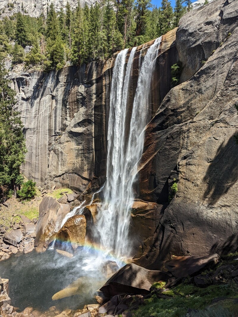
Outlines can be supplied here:
[[96, 231], [100, 234], [102, 247], [108, 252], [113, 251], [118, 257], [130, 256], [128, 235], [134, 199], [133, 185], [137, 180], [137, 165], [143, 152], [144, 128], [149, 119], [151, 79], [161, 39], [155, 40], [143, 58], [140, 56], [142, 64], [139, 65], [130, 120], [127, 118], [127, 101], [136, 48], [131, 50], [126, 66], [128, 49], [119, 52], [113, 68], [107, 133], [107, 183]]

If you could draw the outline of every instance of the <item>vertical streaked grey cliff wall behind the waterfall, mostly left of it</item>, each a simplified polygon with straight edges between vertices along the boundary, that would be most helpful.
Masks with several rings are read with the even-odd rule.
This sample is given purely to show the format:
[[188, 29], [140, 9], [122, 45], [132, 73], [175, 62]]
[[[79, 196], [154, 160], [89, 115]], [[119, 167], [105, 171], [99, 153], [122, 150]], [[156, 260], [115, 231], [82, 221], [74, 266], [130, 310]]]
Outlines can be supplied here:
[[[158, 51], [152, 114], [171, 88], [170, 67], [178, 59], [175, 31], [163, 36]], [[134, 90], [139, 57], [153, 42], [138, 46], [135, 53]], [[55, 184], [83, 192], [94, 177], [106, 174], [109, 92], [115, 58], [48, 74], [10, 73], [26, 137], [23, 172], [37, 185], [46, 184], [50, 189]]]

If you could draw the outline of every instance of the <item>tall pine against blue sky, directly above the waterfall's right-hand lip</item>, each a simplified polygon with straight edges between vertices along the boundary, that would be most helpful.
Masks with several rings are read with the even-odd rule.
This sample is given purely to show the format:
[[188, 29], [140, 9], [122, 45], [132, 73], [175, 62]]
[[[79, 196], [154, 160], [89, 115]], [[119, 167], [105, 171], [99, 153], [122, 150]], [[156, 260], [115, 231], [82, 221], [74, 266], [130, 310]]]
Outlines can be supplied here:
[[168, 0], [162, 0], [161, 2], [161, 16], [159, 22], [159, 36], [167, 33], [173, 28], [172, 20], [174, 17], [173, 8], [171, 2]]

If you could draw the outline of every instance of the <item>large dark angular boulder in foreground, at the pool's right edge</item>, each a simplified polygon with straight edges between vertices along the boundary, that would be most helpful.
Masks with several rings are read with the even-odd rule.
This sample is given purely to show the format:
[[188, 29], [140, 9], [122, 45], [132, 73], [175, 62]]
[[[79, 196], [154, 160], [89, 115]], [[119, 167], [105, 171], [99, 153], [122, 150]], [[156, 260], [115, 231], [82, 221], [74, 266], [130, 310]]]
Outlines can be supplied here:
[[150, 293], [150, 287], [153, 283], [168, 281], [171, 276], [167, 272], [147, 270], [130, 263], [116, 272], [100, 288], [100, 291], [108, 297], [126, 293], [146, 295]]

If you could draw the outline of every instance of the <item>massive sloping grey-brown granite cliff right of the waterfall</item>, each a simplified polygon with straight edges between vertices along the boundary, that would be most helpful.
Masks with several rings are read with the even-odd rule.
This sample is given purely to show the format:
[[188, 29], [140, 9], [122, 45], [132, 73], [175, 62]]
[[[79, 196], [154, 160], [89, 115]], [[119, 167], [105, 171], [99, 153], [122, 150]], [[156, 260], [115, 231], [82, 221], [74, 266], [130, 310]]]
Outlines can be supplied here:
[[176, 47], [184, 82], [147, 126], [140, 165], [144, 200], [167, 202], [171, 171], [179, 179], [146, 254], [148, 268], [173, 254], [237, 249], [237, 5], [217, 0], [180, 20]]

